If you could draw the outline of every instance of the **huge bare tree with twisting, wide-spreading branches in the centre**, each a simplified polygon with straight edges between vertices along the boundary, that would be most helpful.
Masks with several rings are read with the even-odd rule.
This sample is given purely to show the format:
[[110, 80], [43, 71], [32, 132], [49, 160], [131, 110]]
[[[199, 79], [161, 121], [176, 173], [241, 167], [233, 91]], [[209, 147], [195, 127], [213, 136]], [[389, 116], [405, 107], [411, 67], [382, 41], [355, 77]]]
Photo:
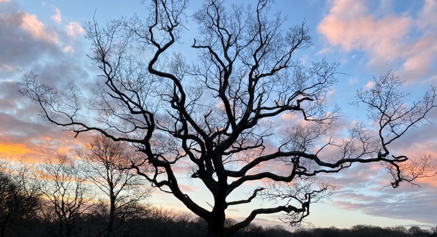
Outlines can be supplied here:
[[[72, 82], [58, 91], [35, 74], [25, 77], [19, 92], [38, 103], [40, 115], [51, 123], [135, 145], [146, 157], [131, 167], [206, 220], [210, 236], [231, 234], [258, 214], [282, 212], [283, 221], [299, 224], [310, 204], [334, 189], [321, 175], [353, 163], [387, 164], [393, 187], [433, 175], [426, 171], [434, 168], [420, 162], [413, 162], [414, 173], [402, 170], [409, 158], [390, 146], [426, 121], [436, 107], [435, 87], [408, 107], [399, 92], [401, 82], [391, 72], [375, 78], [373, 89], [358, 91], [356, 103], [368, 105], [376, 130], [356, 123], [349, 137], [332, 138], [339, 108], [329, 108], [326, 99], [337, 82], [338, 64], [322, 59], [305, 66], [293, 59], [312, 44], [305, 22], [284, 29], [279, 14], [267, 17], [266, 0], [229, 10], [211, 0], [193, 16], [201, 35], [191, 46], [198, 58], [188, 64], [182, 54], [170, 54], [185, 30], [186, 8], [184, 0], [155, 0], [145, 21], [133, 17], [105, 28], [90, 22], [86, 37], [94, 47], [89, 57], [102, 73], [90, 100]], [[81, 117], [83, 110], [96, 115], [95, 121]], [[290, 124], [282, 136], [275, 119], [284, 114], [305, 123]], [[328, 147], [337, 149], [337, 157], [327, 155]], [[144, 171], [145, 163], [154, 170]], [[196, 203], [179, 185], [175, 172], [186, 163], [189, 176], [211, 192], [210, 207]], [[286, 171], [267, 169], [277, 164]], [[265, 182], [246, 198], [229, 200], [237, 188], [257, 180]], [[228, 207], [256, 197], [282, 202], [255, 208], [244, 220], [225, 226]]]

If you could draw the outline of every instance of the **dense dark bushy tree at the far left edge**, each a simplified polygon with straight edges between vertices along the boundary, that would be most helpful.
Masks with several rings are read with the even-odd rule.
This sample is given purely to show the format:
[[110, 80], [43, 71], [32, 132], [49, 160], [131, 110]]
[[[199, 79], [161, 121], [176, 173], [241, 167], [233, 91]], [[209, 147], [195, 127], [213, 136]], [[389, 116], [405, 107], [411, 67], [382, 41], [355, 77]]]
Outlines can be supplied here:
[[8, 230], [17, 232], [27, 219], [37, 214], [40, 194], [28, 179], [28, 171], [26, 163], [17, 167], [0, 157], [0, 237], [8, 236]]

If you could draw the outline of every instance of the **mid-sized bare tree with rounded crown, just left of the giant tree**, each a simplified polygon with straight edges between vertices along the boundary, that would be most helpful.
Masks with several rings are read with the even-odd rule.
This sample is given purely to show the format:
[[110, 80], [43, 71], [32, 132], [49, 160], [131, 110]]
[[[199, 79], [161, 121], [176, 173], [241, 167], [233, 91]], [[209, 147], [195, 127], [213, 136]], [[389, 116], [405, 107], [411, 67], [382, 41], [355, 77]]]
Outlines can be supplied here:
[[84, 162], [81, 170], [87, 180], [109, 198], [106, 236], [114, 236], [114, 230], [121, 226], [129, 213], [132, 214], [131, 208], [151, 194], [151, 189], [147, 188], [141, 176], [129, 169], [132, 161], [140, 160], [141, 153], [134, 152], [125, 143], [114, 142], [102, 135], [93, 136], [85, 148], [85, 153], [78, 152]]

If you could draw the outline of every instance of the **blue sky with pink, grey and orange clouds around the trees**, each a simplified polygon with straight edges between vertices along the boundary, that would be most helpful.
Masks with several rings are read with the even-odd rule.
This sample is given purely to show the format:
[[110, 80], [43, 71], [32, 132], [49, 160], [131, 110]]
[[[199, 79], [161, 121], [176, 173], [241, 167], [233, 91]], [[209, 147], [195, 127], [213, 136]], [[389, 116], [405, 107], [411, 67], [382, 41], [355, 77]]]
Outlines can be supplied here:
[[[228, 1], [231, 3], [233, 1]], [[194, 1], [187, 16], [196, 11]], [[286, 24], [306, 21], [313, 46], [295, 55], [303, 64], [320, 60], [341, 63], [338, 84], [329, 93], [347, 116], [340, 127], [365, 119], [364, 109], [347, 102], [359, 88], [371, 86], [372, 76], [392, 70], [405, 81], [402, 90], [411, 93], [411, 101], [420, 99], [430, 85], [437, 84], [437, 1], [277, 0], [272, 11], [287, 15]], [[86, 135], [73, 138], [42, 121], [38, 106], [18, 95], [17, 81], [34, 72], [44, 82], [60, 86], [75, 81], [91, 87], [98, 71], [86, 54], [91, 45], [84, 39], [83, 25], [93, 17], [100, 24], [133, 14], [144, 16], [139, 1], [26, 1], [0, 0], [0, 154], [22, 157], [35, 162], [58, 152], [73, 153], [88, 141]], [[196, 26], [190, 21], [180, 46], [189, 48]], [[287, 123], [286, 116], [279, 122]], [[437, 165], [437, 111], [428, 116], [427, 125], [405, 134], [393, 149], [410, 156], [429, 153]], [[275, 168], [275, 167], [273, 167]], [[202, 189], [195, 181], [179, 174], [185, 190], [199, 202]], [[389, 177], [379, 164], [354, 165], [341, 174], [326, 177], [337, 186], [331, 200], [314, 204], [308, 221], [315, 226], [350, 227], [356, 224], [379, 226], [437, 225], [437, 177], [418, 180], [421, 188], [403, 184], [400, 188], [382, 188]], [[253, 187], [252, 187], [253, 188]], [[244, 194], [247, 190], [241, 190]], [[195, 198], [195, 199], [196, 199]], [[176, 198], [155, 192], [151, 202], [176, 210], [185, 207]], [[256, 200], [253, 205], [268, 205]], [[228, 211], [240, 219], [250, 205]], [[261, 215], [255, 223], [281, 224], [279, 215]]]

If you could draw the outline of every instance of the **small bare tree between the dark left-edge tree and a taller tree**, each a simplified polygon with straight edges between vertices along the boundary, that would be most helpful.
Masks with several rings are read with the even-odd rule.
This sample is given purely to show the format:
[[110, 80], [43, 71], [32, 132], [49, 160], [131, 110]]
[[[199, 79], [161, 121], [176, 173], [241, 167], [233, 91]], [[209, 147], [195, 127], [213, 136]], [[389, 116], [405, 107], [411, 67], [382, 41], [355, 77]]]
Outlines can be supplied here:
[[74, 235], [78, 231], [77, 218], [90, 207], [93, 198], [76, 162], [59, 154], [45, 160], [37, 173], [41, 193], [56, 213], [59, 236]]

